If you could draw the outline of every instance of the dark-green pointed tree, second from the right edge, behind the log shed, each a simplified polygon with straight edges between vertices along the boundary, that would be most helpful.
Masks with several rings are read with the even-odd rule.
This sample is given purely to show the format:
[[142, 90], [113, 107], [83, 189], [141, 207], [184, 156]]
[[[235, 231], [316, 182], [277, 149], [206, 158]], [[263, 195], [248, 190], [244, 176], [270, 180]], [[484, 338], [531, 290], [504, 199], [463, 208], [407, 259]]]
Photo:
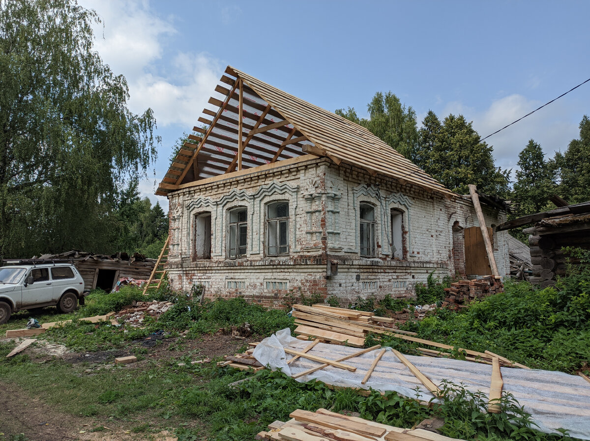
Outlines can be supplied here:
[[545, 160], [541, 146], [532, 139], [519, 153], [517, 165], [513, 187], [514, 199], [519, 203], [516, 217], [538, 213], [555, 194], [555, 167], [552, 161]]

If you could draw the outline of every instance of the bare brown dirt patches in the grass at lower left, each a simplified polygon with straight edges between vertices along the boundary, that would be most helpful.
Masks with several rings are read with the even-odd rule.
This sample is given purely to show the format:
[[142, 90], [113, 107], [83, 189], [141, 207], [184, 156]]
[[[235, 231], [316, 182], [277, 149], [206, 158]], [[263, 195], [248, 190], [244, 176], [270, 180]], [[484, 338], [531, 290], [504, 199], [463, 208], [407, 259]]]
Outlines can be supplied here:
[[[218, 333], [204, 335], [196, 340], [186, 340], [182, 337], [164, 338], [151, 347], [146, 347], [145, 341], [135, 341], [122, 349], [81, 353], [69, 351], [63, 345], [50, 344], [40, 340], [28, 351], [31, 361], [36, 363], [47, 363], [49, 360], [61, 359], [72, 364], [89, 362], [91, 366], [94, 365], [94, 368], [108, 368], [109, 362], [114, 361], [114, 358], [133, 353], [135, 347], [145, 347], [148, 350], [148, 353], [145, 354], [146, 360], [125, 365], [130, 369], [140, 369], [148, 363], [148, 360], [167, 362], [170, 358], [179, 358], [187, 353], [194, 353], [192, 358], [195, 360], [204, 357], [213, 358], [235, 354], [240, 348], [247, 345], [248, 341], [256, 340], [255, 337], [245, 340]], [[108, 427], [108, 429], [91, 432], [93, 428], [99, 426]], [[156, 434], [150, 433], [149, 435], [129, 433], [129, 428], [124, 427], [123, 422], [102, 421], [93, 417], [78, 417], [61, 413], [37, 397], [28, 396], [24, 391], [11, 384], [2, 383], [1, 380], [0, 433], [5, 436], [24, 433], [30, 441], [176, 440], [172, 433], [166, 431]], [[0, 435], [0, 440], [3, 439], [8, 438]]]

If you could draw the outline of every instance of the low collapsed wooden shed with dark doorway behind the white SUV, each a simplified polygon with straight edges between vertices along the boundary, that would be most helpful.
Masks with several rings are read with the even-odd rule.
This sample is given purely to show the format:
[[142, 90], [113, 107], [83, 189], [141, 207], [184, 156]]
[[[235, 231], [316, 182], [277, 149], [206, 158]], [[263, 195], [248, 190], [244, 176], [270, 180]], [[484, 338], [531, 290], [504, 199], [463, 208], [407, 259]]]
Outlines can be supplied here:
[[149, 279], [156, 264], [156, 259], [125, 252], [108, 256], [73, 250], [61, 254], [44, 254], [39, 258], [70, 260], [84, 279], [84, 289], [101, 288], [107, 292], [112, 291], [121, 278]]

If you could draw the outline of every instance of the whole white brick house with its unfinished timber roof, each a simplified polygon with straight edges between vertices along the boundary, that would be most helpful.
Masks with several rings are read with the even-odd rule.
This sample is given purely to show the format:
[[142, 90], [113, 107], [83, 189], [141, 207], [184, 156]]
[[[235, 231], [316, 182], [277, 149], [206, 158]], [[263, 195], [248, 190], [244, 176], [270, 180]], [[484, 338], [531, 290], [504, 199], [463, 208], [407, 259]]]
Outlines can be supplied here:
[[[362, 127], [226, 73], [212, 120], [199, 119], [208, 129], [195, 127], [156, 192], [169, 199], [173, 286], [278, 306], [289, 294], [411, 295], [433, 271], [490, 274], [476, 262], [483, 243], [464, 243], [478, 231], [470, 199]], [[483, 210], [487, 226], [505, 219]], [[505, 234], [493, 235], [501, 275]]]

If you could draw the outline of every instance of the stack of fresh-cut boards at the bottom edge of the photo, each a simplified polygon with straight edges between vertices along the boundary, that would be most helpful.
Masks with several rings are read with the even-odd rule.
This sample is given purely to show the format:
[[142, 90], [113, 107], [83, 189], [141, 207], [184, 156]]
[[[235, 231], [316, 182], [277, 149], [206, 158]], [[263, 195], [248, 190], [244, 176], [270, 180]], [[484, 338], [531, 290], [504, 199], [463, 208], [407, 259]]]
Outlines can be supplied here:
[[275, 421], [268, 432], [260, 432], [258, 440], [278, 441], [451, 441], [455, 438], [438, 435], [424, 429], [402, 429], [318, 409], [316, 412], [297, 409], [287, 422]]

